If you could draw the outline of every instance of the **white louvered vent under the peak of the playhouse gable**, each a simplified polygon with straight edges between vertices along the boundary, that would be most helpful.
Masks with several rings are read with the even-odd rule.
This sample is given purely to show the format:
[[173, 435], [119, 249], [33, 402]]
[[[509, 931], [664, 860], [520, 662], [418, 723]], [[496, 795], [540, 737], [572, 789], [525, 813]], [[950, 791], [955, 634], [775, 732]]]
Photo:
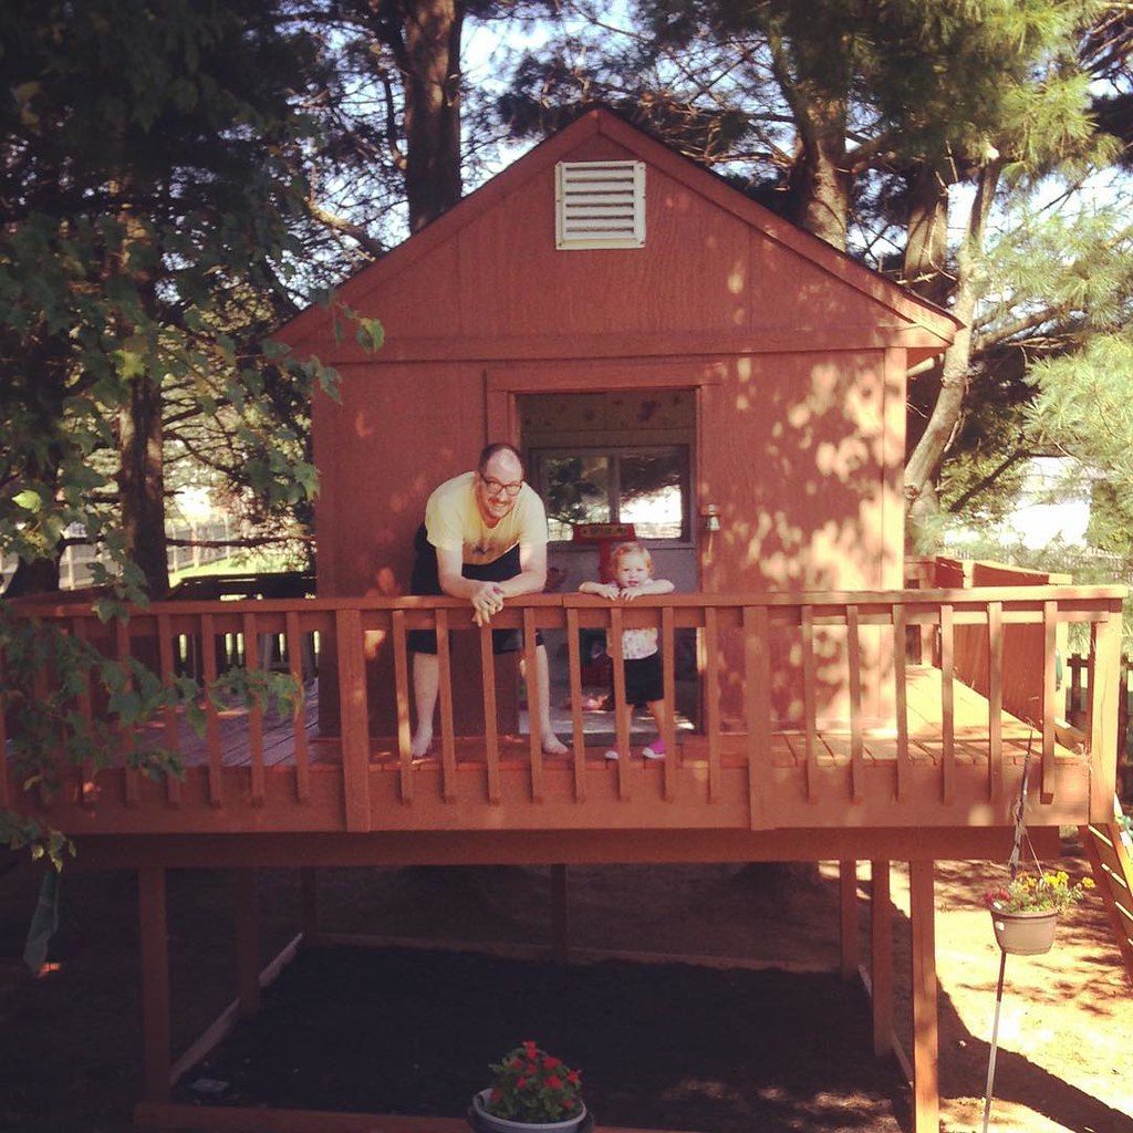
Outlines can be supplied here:
[[640, 248], [644, 244], [644, 162], [559, 162], [555, 167], [556, 247]]

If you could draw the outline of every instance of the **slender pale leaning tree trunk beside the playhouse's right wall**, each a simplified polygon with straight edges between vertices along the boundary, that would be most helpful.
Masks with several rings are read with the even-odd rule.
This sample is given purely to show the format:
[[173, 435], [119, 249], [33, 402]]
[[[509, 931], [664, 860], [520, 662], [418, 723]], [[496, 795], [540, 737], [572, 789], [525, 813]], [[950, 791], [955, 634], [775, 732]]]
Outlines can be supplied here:
[[964, 392], [968, 387], [978, 273], [983, 262], [983, 238], [999, 181], [999, 171], [1000, 163], [995, 161], [986, 165], [979, 174], [976, 199], [972, 202], [972, 212], [968, 221], [968, 235], [956, 261], [957, 286], [953, 314], [963, 322], [963, 326], [956, 332], [952, 346], [944, 356], [940, 392], [925, 433], [905, 465], [909, 531], [922, 548], [923, 542], [917, 537], [926, 535], [927, 520], [940, 510], [936, 491], [937, 479], [944, 455], [960, 425]]

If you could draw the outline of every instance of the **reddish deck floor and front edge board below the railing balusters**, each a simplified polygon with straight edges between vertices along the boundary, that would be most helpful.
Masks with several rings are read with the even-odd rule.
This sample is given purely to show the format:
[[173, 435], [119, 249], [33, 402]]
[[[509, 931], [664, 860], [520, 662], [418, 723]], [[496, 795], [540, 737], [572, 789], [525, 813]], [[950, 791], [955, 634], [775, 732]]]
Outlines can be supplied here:
[[[715, 764], [712, 738], [682, 734], [665, 760], [645, 761], [634, 748], [630, 760], [607, 761], [602, 743], [583, 748], [581, 759], [577, 752], [545, 756], [537, 768], [529, 736], [501, 735], [489, 776], [484, 739], [461, 736], [454, 740], [448, 770], [444, 759], [431, 753], [414, 760], [407, 776], [395, 742], [373, 738], [365, 783], [367, 829], [1005, 827], [1028, 755], [1036, 824], [1076, 823], [1088, 811], [1091, 769], [1081, 748], [1057, 743], [1053, 774], [1043, 777], [1040, 730], [1000, 710], [999, 758], [993, 759], [989, 702], [959, 682], [953, 690], [953, 759], [945, 776], [940, 671], [910, 666], [906, 688], [905, 759], [895, 724], [863, 729], [860, 761], [853, 758], [849, 726], [818, 729], [809, 755], [806, 730], [774, 731], [768, 758], [758, 766], [750, 764], [749, 736], [739, 732], [718, 736]], [[69, 798], [43, 808], [43, 817], [79, 836], [341, 832], [348, 809], [342, 743], [316, 734], [317, 709], [317, 688], [312, 685], [297, 713], [301, 729], [290, 718], [262, 722], [258, 783], [252, 714], [232, 709], [218, 713], [220, 774], [215, 759], [210, 760], [208, 742], [189, 733], [182, 740], [182, 783], [142, 780], [131, 795], [130, 773], [110, 768], [99, 773], [92, 798], [90, 787], [80, 791], [76, 776]], [[304, 763], [297, 759], [300, 734]]]

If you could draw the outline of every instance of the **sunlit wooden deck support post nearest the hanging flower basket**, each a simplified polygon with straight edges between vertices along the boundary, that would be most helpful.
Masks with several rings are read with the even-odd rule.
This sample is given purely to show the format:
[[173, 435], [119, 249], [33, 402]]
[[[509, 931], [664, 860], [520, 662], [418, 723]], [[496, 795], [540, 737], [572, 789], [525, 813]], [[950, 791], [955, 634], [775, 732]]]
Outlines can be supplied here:
[[913, 1133], [939, 1133], [935, 862], [909, 863], [909, 919], [912, 922]]

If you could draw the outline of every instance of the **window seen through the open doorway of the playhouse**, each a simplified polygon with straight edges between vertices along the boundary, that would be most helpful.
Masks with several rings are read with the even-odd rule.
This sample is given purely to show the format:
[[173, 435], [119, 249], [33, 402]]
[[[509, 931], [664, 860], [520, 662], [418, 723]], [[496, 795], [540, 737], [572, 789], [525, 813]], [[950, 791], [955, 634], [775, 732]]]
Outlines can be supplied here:
[[574, 523], [632, 523], [642, 539], [689, 538], [689, 446], [542, 449], [535, 486], [553, 540]]

